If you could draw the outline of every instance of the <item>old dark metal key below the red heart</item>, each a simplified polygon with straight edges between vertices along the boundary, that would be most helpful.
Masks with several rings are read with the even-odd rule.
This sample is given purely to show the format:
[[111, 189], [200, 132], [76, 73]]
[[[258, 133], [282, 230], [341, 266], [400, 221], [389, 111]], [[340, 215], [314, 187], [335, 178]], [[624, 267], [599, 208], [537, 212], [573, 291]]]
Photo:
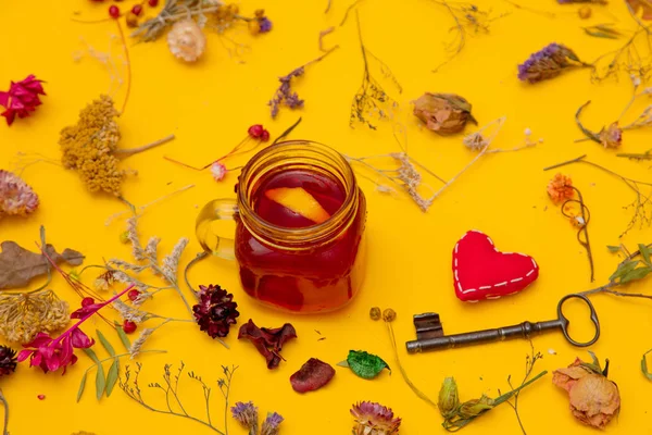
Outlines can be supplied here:
[[[587, 303], [587, 306], [589, 306], [591, 312], [591, 322], [593, 322], [593, 325], [595, 326], [595, 335], [589, 341], [576, 341], [573, 338], [570, 338], [570, 335], [568, 334], [568, 325], [570, 324], [570, 322], [564, 315], [563, 306], [564, 302], [573, 298], [581, 299]], [[429, 315], [432, 316], [436, 314]], [[438, 316], [437, 322], [439, 322]], [[415, 324], [417, 324], [417, 316], [415, 316]], [[441, 330], [441, 327], [439, 327], [439, 330]], [[564, 337], [566, 337], [566, 340], [568, 340], [568, 343], [570, 343], [573, 346], [587, 347], [598, 341], [598, 338], [600, 338], [600, 322], [598, 321], [598, 313], [595, 312], [595, 309], [593, 308], [591, 301], [584, 295], [567, 295], [564, 296], [557, 304], [557, 318], [555, 320], [536, 323], [523, 322], [513, 326], [504, 326], [496, 330], [477, 331], [474, 333], [466, 334], [441, 335], [429, 337], [423, 336], [423, 334], [417, 334], [416, 340], [408, 341], [405, 345], [408, 346], [409, 353], [417, 353], [428, 350], [448, 349], [453, 347], [478, 345], [482, 343], [501, 341], [511, 338], [530, 338], [534, 335], [557, 330], [562, 331]], [[418, 331], [419, 328], [417, 326], [417, 333]]]

